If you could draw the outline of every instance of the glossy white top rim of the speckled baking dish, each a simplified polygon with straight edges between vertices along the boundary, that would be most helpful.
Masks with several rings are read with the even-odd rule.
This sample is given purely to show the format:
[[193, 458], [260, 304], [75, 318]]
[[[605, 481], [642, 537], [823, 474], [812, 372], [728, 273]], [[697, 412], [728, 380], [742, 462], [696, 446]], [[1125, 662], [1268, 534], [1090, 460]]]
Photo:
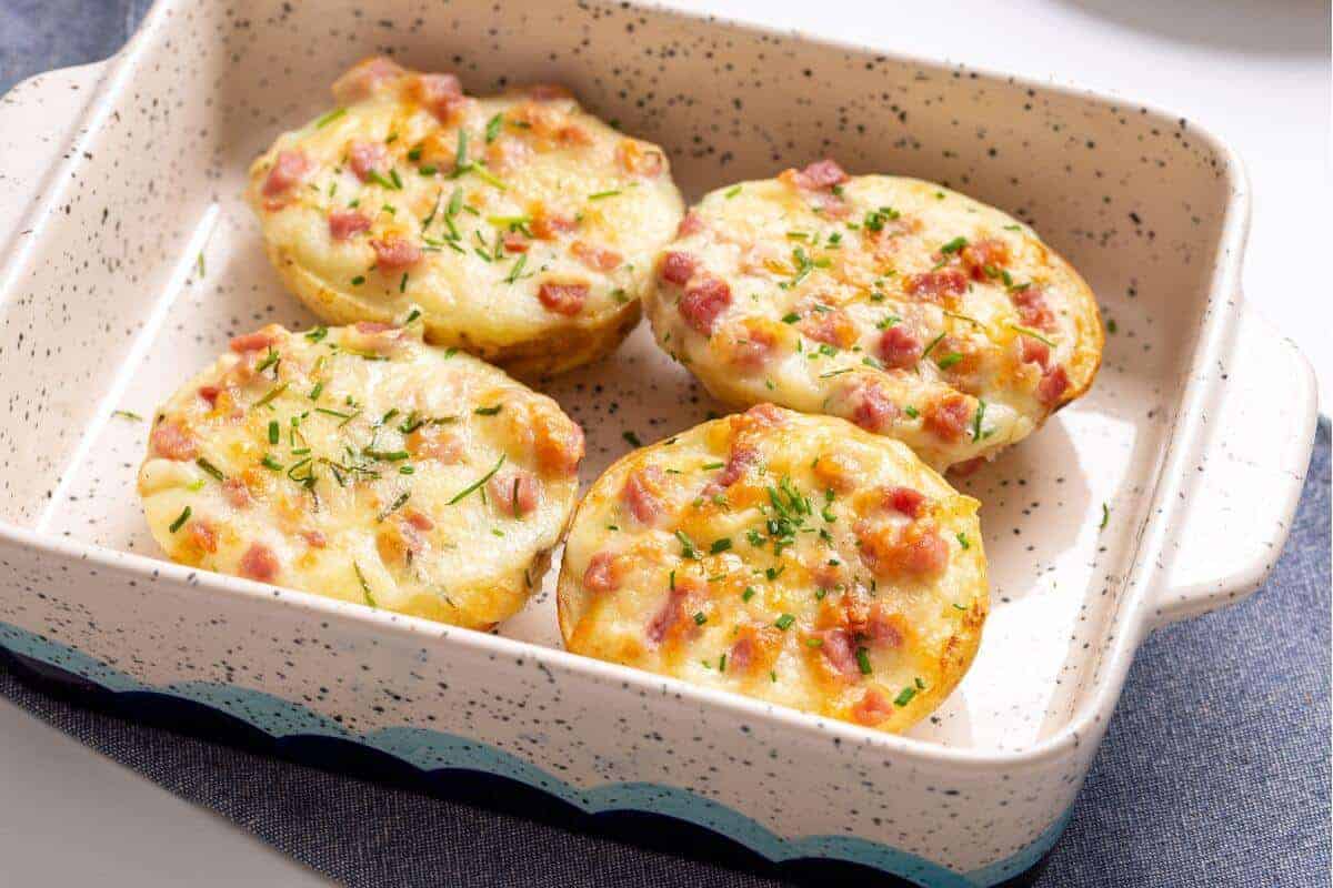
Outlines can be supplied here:
[[[15, 232], [27, 230], [31, 232], [32, 237], [24, 238], [25, 242], [15, 244], [15, 249], [9, 250], [7, 261], [0, 266], [0, 292], [9, 290], [32, 245], [41, 240], [44, 228], [59, 208], [65, 188], [73, 181], [73, 177], [69, 174], [72, 168], [80, 161], [83, 149], [88, 141], [99, 134], [105, 125], [105, 120], [111, 113], [109, 97], [117, 95], [127, 85], [152, 36], [163, 27], [163, 21], [169, 12], [177, 7], [188, 5], [188, 3], [189, 0], [155, 0], [139, 29], [125, 47], [107, 60], [93, 63], [103, 68], [99, 75], [99, 83], [91, 92], [79, 116], [72, 121], [73, 138], [60, 145], [64, 149], [63, 157], [57, 156], [56, 161], [47, 168], [47, 173], [41, 178], [41, 188], [52, 182], [55, 182], [55, 186], [44, 190], [41, 197], [20, 214], [20, 222], [16, 225]], [[1156, 114], [1162, 120], [1180, 121], [1182, 125], [1188, 125], [1193, 136], [1201, 140], [1213, 156], [1218, 158], [1220, 186], [1229, 190], [1229, 197], [1226, 198], [1218, 225], [1218, 236], [1213, 242], [1216, 256], [1206, 289], [1209, 301], [1214, 301], [1220, 296], [1234, 294], [1237, 306], [1242, 302], [1240, 298], [1238, 278], [1250, 217], [1248, 174], [1241, 158], [1225, 140], [1205, 126], [1189, 122], [1188, 117], [1173, 113], [1153, 103], [1128, 100], [1109, 91], [1089, 89], [1070, 81], [1040, 81], [1026, 76], [994, 71], [984, 65], [950, 63], [930, 56], [918, 56], [840, 39], [814, 36], [798, 28], [780, 29], [725, 15], [693, 13], [663, 5], [656, 0], [627, 0], [624, 4], [607, 4], [601, 3], [601, 0], [591, 0], [591, 3], [597, 7], [615, 5], [623, 8], [628, 5], [664, 15], [694, 27], [722, 25], [754, 36], [798, 40], [820, 51], [873, 55], [878, 59], [902, 65], [916, 65], [948, 76], [958, 72], [974, 73], [978, 77], [988, 77], [1030, 91], [1054, 93], [1080, 103], [1092, 103], [1101, 107], [1133, 107]], [[375, 627], [377, 631], [404, 638], [443, 639], [445, 636], [455, 636], [452, 639], [455, 643], [460, 643], [476, 654], [540, 656], [545, 658], [549, 666], [560, 667], [567, 672], [583, 672], [587, 678], [596, 682], [616, 682], [633, 686], [639, 691], [651, 691], [655, 694], [668, 691], [685, 699], [696, 699], [700, 704], [720, 707], [732, 715], [777, 720], [790, 730], [805, 732], [818, 731], [824, 736], [844, 743], [872, 747], [909, 759], [948, 763], [969, 768], [974, 772], [989, 772], [1000, 767], [1033, 767], [1068, 755], [1082, 743], [1082, 736], [1085, 735], [1100, 735], [1101, 730], [1105, 728], [1106, 714], [1109, 714], [1120, 698], [1133, 652], [1141, 643], [1145, 628], [1150, 624], [1149, 616], [1153, 591], [1149, 584], [1153, 579], [1160, 578], [1165, 570], [1160, 562], [1170, 539], [1168, 527], [1170, 514], [1169, 510], [1158, 509], [1158, 506], [1173, 503], [1180, 498], [1181, 487], [1186, 479], [1186, 473], [1184, 471], [1185, 461], [1202, 439], [1204, 407], [1212, 394], [1212, 383], [1205, 374], [1190, 373], [1189, 370], [1205, 365], [1226, 351], [1226, 346], [1229, 345], [1228, 337], [1238, 325], [1241, 316], [1242, 310], [1240, 309], [1236, 312], [1204, 312], [1198, 338], [1194, 342], [1189, 361], [1184, 365], [1186, 378], [1176, 402], [1176, 414], [1164, 437], [1162, 457], [1154, 466], [1152, 475], [1146, 479], [1145, 486], [1149, 490], [1149, 497], [1146, 499], [1148, 506], [1142, 518], [1141, 531], [1136, 534], [1136, 539], [1128, 546], [1125, 555], [1129, 567], [1122, 584], [1120, 603], [1113, 614], [1110, 614], [1108, 628], [1113, 634], [1113, 638], [1108, 642], [1108, 647], [1102, 654], [1104, 668], [1098, 670], [1092, 678], [1090, 687], [1082, 695], [1081, 702], [1076, 704], [1070, 716], [1057, 731], [1021, 750], [949, 747], [929, 740], [884, 734], [798, 710], [762, 703], [729, 691], [700, 687], [655, 672], [605, 663], [593, 658], [571, 654], [560, 647], [547, 647], [535, 642], [491, 635], [409, 615], [376, 611], [364, 604], [327, 599], [300, 590], [265, 586], [248, 579], [213, 574], [107, 546], [53, 537], [8, 521], [0, 521], [0, 541], [43, 553], [44, 556], [83, 560], [111, 570], [127, 570], [141, 575], [153, 575], [156, 572], [187, 588], [199, 590], [199, 594], [232, 594], [253, 600], [277, 602], [288, 607], [320, 614], [327, 619], [352, 620], [360, 626]], [[195, 592], [191, 591], [191, 594]]]

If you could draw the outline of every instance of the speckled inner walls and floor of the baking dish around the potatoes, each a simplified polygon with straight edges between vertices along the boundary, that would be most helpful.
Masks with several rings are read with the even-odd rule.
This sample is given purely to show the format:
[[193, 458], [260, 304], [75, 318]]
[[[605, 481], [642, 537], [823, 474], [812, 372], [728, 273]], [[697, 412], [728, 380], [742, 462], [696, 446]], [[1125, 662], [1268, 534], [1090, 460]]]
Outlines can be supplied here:
[[[455, 71], [475, 93], [559, 81], [666, 148], [689, 200], [826, 154], [994, 204], [1086, 277], [1114, 325], [1092, 393], [954, 479], [982, 502], [993, 610], [970, 674], [912, 736], [1017, 751], [1070, 719], [1117, 631], [1220, 258], [1233, 174], [1206, 136], [1136, 105], [665, 12], [315, 5], [151, 16], [68, 201], [0, 293], [0, 518], [161, 558], [135, 494], [147, 419], [231, 335], [313, 324], [281, 290], [240, 193], [279, 132], [332, 107], [327, 84], [345, 67], [391, 52]], [[647, 326], [541, 387], [588, 433], [585, 487], [627, 433], [649, 443], [724, 411]], [[500, 634], [560, 646], [555, 572]]]

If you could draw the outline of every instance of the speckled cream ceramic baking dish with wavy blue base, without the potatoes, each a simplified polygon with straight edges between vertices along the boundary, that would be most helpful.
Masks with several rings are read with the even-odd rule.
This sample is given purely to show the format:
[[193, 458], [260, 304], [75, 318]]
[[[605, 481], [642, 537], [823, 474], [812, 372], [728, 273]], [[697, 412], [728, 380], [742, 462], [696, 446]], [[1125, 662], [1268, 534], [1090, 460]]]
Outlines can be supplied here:
[[[168, 563], [133, 494], [147, 417], [228, 337], [311, 318], [245, 170], [352, 61], [560, 81], [663, 145], [686, 197], [830, 154], [944, 182], [1037, 230], [1108, 322], [1090, 394], [960, 482], [992, 614], [905, 736], [575, 656], [555, 576], [497, 635]], [[1254, 590], [1313, 435], [1304, 359], [1246, 309], [1236, 156], [1134, 103], [632, 5], [164, 0], [115, 60], [0, 105], [0, 644], [113, 691], [504, 774], [585, 809], [704, 824], [776, 860], [922, 885], [1030, 867], [1153, 627]], [[583, 481], [717, 405], [640, 328], [547, 393]], [[124, 413], [128, 411], [128, 413]]]

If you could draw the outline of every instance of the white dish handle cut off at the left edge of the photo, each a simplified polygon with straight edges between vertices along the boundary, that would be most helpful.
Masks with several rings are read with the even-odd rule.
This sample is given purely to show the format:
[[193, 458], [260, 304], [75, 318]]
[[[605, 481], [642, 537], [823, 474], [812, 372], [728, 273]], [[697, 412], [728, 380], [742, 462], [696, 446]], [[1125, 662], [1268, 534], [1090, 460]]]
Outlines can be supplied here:
[[19, 248], [20, 224], [55, 184], [107, 61], [59, 68], [24, 80], [0, 97], [0, 248]]

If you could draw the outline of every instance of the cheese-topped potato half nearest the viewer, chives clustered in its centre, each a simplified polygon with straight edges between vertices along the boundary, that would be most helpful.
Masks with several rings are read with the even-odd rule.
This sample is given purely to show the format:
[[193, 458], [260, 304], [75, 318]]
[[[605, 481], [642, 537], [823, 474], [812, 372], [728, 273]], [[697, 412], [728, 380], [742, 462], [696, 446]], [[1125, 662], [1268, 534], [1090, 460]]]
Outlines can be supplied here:
[[896, 441], [758, 405], [597, 479], [560, 630], [579, 654], [902, 731], [981, 639], [977, 506]]

